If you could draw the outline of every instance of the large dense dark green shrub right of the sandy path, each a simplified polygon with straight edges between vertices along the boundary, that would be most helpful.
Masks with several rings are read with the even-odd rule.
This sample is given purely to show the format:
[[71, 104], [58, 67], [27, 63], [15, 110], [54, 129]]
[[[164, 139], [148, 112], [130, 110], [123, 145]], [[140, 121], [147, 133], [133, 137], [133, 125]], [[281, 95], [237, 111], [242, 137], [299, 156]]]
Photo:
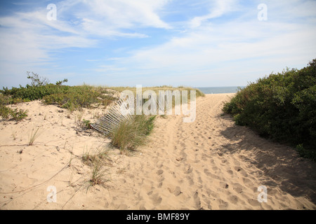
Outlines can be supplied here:
[[237, 125], [263, 136], [316, 150], [316, 59], [301, 69], [285, 69], [239, 89], [223, 107]]

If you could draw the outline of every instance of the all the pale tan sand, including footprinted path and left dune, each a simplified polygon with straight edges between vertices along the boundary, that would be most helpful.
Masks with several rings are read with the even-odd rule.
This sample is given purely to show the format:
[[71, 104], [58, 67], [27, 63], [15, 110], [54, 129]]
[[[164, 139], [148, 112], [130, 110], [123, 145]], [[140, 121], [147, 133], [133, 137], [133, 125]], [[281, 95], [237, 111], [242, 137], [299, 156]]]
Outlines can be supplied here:
[[[125, 154], [78, 126], [101, 109], [18, 104], [29, 111], [25, 120], [0, 121], [0, 209], [316, 209], [315, 162], [223, 116], [232, 95], [198, 98], [194, 123], [157, 118], [147, 145]], [[41, 135], [28, 146], [37, 127]], [[100, 148], [109, 148], [105, 183], [90, 186], [81, 157]], [[258, 202], [259, 186], [266, 202]], [[51, 189], [57, 194], [47, 200]]]

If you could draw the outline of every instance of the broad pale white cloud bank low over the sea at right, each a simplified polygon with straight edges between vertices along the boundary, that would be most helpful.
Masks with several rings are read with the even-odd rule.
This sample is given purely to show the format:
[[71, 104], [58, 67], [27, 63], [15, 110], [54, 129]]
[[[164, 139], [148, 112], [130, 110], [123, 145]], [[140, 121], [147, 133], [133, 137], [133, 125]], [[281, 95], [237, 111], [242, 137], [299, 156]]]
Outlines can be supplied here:
[[[203, 19], [223, 15], [224, 8]], [[306, 66], [315, 57], [315, 19], [287, 22], [283, 18], [270, 18], [260, 22], [256, 10], [255, 7], [251, 12], [252, 20], [250, 15], [243, 15], [218, 25], [202, 22], [166, 43], [134, 50], [130, 57], [116, 59], [112, 66], [129, 68], [133, 80], [158, 76], [162, 84], [178, 80], [183, 85], [212, 85], [217, 80], [217, 83], [245, 85], [272, 71], [282, 71], [286, 66]], [[116, 75], [123, 77], [125, 72], [117, 71]]]

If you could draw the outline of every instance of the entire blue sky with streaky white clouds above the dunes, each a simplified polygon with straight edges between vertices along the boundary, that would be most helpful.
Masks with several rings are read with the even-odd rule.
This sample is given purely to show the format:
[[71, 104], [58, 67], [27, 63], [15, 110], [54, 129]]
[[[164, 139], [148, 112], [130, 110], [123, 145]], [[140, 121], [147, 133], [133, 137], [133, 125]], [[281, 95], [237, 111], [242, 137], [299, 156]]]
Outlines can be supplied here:
[[0, 1], [0, 87], [245, 86], [316, 58], [316, 1]]

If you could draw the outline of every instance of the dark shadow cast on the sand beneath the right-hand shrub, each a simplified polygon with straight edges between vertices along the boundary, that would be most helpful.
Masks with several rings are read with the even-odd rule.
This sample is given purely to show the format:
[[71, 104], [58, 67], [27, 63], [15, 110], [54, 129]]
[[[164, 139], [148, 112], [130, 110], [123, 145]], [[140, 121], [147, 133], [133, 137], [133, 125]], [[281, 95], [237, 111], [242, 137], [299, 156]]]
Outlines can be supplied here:
[[[232, 120], [230, 116], [218, 118]], [[234, 125], [221, 134], [237, 140], [222, 146], [225, 153], [246, 153], [249, 156], [244, 159], [270, 177], [265, 186], [279, 186], [294, 197], [307, 197], [316, 204], [316, 162], [299, 158], [294, 148], [264, 139], [248, 127]]]

